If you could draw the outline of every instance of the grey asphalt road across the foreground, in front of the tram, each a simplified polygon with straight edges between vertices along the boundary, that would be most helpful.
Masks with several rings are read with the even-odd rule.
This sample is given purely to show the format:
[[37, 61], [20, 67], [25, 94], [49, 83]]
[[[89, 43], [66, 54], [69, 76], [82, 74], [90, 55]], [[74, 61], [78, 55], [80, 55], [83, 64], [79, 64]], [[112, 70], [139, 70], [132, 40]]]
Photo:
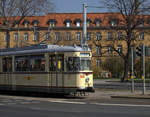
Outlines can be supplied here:
[[0, 117], [150, 117], [150, 105], [0, 96]]

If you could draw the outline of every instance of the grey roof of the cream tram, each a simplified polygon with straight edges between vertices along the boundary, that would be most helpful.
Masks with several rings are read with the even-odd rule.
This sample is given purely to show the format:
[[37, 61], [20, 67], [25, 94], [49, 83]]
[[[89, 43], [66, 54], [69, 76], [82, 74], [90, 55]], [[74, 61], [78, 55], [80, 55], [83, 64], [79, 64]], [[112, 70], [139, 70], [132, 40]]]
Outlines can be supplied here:
[[46, 52], [83, 52], [90, 51], [89, 48], [80, 46], [59, 46], [59, 45], [34, 45], [22, 48], [0, 49], [0, 56], [46, 53]]

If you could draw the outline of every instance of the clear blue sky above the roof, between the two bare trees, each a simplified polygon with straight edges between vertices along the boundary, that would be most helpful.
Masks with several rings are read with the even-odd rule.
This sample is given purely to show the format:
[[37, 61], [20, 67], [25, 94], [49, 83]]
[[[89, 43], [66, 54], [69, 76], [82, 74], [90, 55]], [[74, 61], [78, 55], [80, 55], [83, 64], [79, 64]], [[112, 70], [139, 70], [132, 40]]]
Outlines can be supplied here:
[[[99, 6], [100, 0], [52, 0], [55, 4], [55, 12], [58, 13], [79, 13], [82, 12], [82, 5]], [[88, 8], [87, 12], [102, 12], [102, 9]]]

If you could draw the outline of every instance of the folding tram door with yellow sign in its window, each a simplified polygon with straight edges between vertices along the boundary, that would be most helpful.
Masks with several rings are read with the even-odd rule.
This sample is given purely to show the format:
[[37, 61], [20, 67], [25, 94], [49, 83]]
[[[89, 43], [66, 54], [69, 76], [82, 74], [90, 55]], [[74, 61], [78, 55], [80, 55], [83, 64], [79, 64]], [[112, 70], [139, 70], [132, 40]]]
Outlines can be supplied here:
[[49, 56], [51, 87], [56, 87], [59, 91], [63, 91], [64, 87], [64, 55], [56, 54]]

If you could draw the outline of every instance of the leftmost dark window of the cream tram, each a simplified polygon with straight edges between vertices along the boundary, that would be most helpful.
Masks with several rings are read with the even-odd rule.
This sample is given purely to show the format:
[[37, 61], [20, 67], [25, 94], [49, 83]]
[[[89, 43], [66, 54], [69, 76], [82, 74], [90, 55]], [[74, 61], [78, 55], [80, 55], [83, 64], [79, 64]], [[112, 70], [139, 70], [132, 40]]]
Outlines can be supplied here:
[[3, 72], [12, 72], [12, 58], [6, 57], [2, 59]]

